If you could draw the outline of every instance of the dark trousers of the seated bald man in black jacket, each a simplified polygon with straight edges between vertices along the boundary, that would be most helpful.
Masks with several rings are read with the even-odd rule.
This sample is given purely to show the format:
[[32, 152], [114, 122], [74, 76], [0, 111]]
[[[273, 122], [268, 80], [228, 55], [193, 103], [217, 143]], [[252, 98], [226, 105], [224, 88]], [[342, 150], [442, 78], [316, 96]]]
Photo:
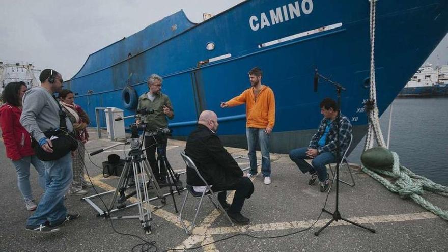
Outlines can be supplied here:
[[218, 193], [218, 200], [220, 203], [226, 202], [227, 191], [235, 190], [235, 195], [233, 197], [232, 206], [230, 207], [230, 212], [240, 213], [243, 208], [245, 199], [249, 199], [250, 195], [254, 193], [254, 184], [247, 177], [241, 177], [239, 180], [232, 184], [231, 186], [214, 187], [213, 191], [221, 191]]

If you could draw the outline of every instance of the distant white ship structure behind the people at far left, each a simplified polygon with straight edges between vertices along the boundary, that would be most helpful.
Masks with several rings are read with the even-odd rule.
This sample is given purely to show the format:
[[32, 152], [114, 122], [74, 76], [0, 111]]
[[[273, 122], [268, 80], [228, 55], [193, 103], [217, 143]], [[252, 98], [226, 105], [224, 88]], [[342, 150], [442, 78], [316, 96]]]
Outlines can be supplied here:
[[0, 92], [12, 81], [23, 81], [28, 89], [39, 86], [39, 69], [34, 65], [24, 62], [7, 62], [0, 60]]

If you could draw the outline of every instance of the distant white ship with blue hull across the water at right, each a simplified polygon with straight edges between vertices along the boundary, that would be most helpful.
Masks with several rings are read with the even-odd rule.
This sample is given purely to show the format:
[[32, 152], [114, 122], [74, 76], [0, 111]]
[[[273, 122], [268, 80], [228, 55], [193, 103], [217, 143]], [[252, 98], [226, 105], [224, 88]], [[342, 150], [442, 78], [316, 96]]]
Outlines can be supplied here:
[[411, 77], [398, 97], [432, 97], [448, 95], [448, 65], [433, 67], [426, 63]]

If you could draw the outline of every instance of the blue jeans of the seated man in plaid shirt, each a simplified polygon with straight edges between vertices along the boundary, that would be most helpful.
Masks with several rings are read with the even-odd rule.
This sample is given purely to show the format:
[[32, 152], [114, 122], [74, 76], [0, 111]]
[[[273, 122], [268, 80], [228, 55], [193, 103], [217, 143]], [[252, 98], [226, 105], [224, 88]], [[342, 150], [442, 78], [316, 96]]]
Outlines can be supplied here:
[[309, 172], [313, 174], [317, 172], [317, 177], [320, 182], [324, 182], [327, 179], [327, 167], [329, 163], [334, 163], [336, 158], [331, 152], [320, 153], [317, 157], [313, 158], [311, 165], [305, 161], [305, 159], [312, 159], [306, 156], [307, 147], [294, 149], [289, 152], [289, 158], [293, 160], [297, 167], [299, 167], [302, 173]]

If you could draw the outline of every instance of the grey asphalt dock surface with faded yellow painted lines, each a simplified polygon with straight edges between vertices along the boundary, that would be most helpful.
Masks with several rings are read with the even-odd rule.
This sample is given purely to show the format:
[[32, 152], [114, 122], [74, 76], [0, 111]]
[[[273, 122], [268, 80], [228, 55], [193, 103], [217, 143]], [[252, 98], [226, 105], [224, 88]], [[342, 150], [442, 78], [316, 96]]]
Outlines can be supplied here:
[[[90, 142], [86, 149], [90, 153], [115, 144], [107, 139], [98, 139], [95, 131], [90, 132]], [[104, 135], [104, 134], [103, 134]], [[3, 140], [2, 140], [3, 142]], [[169, 141], [167, 158], [175, 171], [184, 171], [185, 163], [180, 152], [185, 142]], [[86, 154], [86, 166], [91, 181], [98, 192], [114, 189], [118, 177], [103, 178], [100, 169], [102, 161], [109, 154], [115, 153], [122, 158], [129, 146], [120, 146], [91, 157]], [[247, 150], [228, 148], [233, 156], [247, 156]], [[118, 234], [132, 234], [147, 241], [155, 241], [157, 251], [170, 248], [191, 248], [212, 243], [236, 234], [249, 234], [254, 238], [239, 235], [231, 239], [219, 241], [194, 251], [446, 251], [448, 250], [448, 223], [427, 212], [409, 199], [401, 199], [397, 194], [389, 192], [378, 182], [355, 171], [354, 187], [340, 184], [340, 212], [342, 217], [358, 222], [376, 230], [371, 233], [347, 222], [332, 223], [319, 236], [314, 232], [331, 219], [331, 215], [323, 213], [316, 219], [324, 206], [326, 193], [319, 191], [316, 185], [307, 185], [308, 177], [299, 173], [296, 165], [285, 154], [271, 154], [272, 184], [264, 185], [263, 176], [259, 173], [253, 179], [255, 193], [246, 200], [242, 214], [250, 218], [250, 224], [231, 226], [225, 217], [216, 210], [210, 201], [205, 200], [198, 217], [199, 221], [193, 235], [185, 234], [178, 214], [175, 213], [173, 200], [166, 198], [167, 204], [152, 212], [152, 234], [145, 235], [138, 220], [107, 220], [97, 217], [97, 212], [82, 197], [67, 196], [65, 201], [69, 212], [78, 212], [80, 218], [64, 224], [60, 232], [42, 234], [24, 229], [27, 217], [32, 212], [24, 208], [23, 199], [17, 188], [17, 175], [12, 162], [6, 157], [5, 146], [0, 144], [0, 160], [2, 181], [0, 184], [2, 211], [0, 211], [0, 251], [131, 251], [143, 243], [135, 237]], [[258, 155], [260, 157], [260, 155]], [[350, 159], [350, 158], [349, 158]], [[247, 167], [248, 160], [237, 159], [240, 167]], [[350, 160], [359, 163], [359, 160]], [[98, 167], [99, 166], [99, 167]], [[39, 200], [42, 190], [38, 187], [37, 174], [32, 168], [31, 182], [35, 199]], [[87, 174], [86, 174], [87, 175]], [[348, 179], [345, 170], [341, 178]], [[185, 181], [185, 174], [181, 175]], [[163, 192], [168, 192], [166, 187]], [[88, 189], [95, 194], [94, 188]], [[154, 195], [152, 190], [149, 191]], [[86, 195], [87, 196], [87, 195]], [[102, 197], [108, 205], [112, 195]], [[175, 195], [177, 206], [180, 206], [185, 192]], [[231, 202], [232, 193], [228, 194]], [[448, 201], [438, 195], [426, 193], [427, 199], [442, 209], [448, 209]], [[105, 209], [99, 199], [93, 200], [100, 208]], [[189, 198], [185, 210], [185, 218], [189, 223], [194, 218], [195, 204], [198, 201]], [[152, 206], [160, 201], [151, 202]], [[335, 205], [335, 188], [329, 193], [325, 206], [331, 212]], [[118, 211], [113, 216], [137, 215], [136, 207]], [[316, 222], [316, 223], [315, 223]], [[313, 225], [309, 230], [299, 232]], [[267, 237], [293, 235], [282, 238]], [[139, 251], [137, 247], [135, 251]], [[154, 250], [150, 250], [154, 251]]]

